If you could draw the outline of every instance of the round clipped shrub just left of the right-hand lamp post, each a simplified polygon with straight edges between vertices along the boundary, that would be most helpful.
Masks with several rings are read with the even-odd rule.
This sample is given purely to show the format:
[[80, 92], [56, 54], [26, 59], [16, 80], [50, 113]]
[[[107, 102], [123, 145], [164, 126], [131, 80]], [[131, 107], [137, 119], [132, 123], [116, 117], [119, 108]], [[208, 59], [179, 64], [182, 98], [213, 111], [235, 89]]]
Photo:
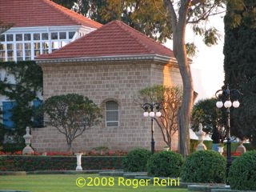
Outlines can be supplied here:
[[182, 167], [184, 182], [223, 183], [226, 175], [226, 160], [218, 152], [199, 150], [190, 154]]

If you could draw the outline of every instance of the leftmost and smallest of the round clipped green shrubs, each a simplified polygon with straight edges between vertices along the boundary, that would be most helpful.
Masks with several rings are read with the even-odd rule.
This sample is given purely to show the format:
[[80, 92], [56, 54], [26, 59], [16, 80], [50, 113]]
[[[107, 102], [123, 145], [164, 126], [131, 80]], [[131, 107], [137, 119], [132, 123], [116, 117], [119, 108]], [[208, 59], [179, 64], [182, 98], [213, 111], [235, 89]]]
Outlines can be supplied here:
[[150, 158], [150, 150], [135, 149], [130, 150], [126, 158], [122, 160], [125, 171], [138, 172], [146, 171], [147, 160]]

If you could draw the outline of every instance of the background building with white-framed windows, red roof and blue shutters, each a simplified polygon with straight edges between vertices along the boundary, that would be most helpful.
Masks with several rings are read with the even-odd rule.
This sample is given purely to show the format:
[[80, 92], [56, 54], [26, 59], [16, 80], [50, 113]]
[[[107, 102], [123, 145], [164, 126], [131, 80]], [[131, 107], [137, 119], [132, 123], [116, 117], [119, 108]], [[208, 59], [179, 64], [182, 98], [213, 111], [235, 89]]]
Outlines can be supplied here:
[[[102, 26], [50, 0], [0, 0], [0, 24], [11, 26], [0, 34], [0, 62], [34, 60]], [[2, 68], [0, 81], [16, 84], [14, 75]], [[40, 91], [38, 98], [42, 99]], [[14, 128], [10, 112], [14, 106], [15, 101], [0, 93], [2, 124], [6, 129]]]

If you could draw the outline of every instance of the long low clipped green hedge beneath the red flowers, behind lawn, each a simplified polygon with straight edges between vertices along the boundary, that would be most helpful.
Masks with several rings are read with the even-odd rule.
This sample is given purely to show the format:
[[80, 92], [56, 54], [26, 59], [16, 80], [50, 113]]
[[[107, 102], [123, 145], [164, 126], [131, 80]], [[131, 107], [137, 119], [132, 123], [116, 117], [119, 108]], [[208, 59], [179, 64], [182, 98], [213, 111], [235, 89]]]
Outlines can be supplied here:
[[[82, 157], [83, 170], [122, 170], [122, 156]], [[0, 156], [1, 171], [75, 170], [75, 156]]]

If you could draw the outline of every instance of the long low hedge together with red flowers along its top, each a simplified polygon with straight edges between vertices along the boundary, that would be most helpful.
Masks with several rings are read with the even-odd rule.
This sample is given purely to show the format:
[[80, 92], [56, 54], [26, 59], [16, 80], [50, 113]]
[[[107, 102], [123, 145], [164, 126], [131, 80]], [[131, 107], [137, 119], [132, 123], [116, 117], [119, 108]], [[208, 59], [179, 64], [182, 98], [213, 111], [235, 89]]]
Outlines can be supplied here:
[[[81, 152], [84, 170], [116, 170], [122, 169], [122, 158], [127, 153], [122, 150], [93, 149]], [[1, 170], [74, 170], [76, 157], [73, 153], [49, 151], [22, 155], [18, 150], [14, 153], [0, 151]]]

